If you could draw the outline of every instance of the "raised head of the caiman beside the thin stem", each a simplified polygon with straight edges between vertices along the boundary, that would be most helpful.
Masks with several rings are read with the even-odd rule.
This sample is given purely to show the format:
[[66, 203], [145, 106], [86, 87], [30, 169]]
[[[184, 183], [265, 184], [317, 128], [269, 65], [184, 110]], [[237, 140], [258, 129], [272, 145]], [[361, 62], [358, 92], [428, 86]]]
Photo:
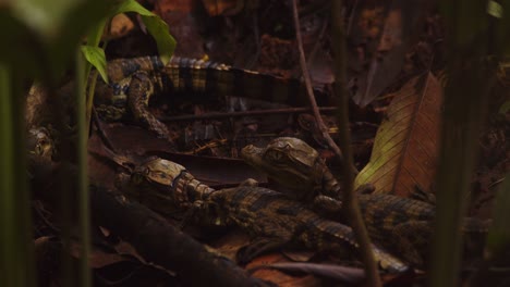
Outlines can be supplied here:
[[241, 155], [255, 169], [303, 198], [323, 189], [326, 165], [318, 152], [299, 138], [280, 137], [266, 148], [246, 146]]

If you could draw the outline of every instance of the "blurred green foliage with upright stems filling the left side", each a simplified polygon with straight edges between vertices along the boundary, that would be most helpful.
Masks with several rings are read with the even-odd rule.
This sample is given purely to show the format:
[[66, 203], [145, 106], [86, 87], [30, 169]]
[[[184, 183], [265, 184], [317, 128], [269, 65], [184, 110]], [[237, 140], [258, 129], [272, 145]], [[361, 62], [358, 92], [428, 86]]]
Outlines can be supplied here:
[[[156, 37], [163, 61], [175, 47], [167, 24], [134, 0], [15, 0], [0, 4], [0, 286], [34, 286], [34, 253], [31, 235], [29, 194], [25, 166], [23, 124], [24, 98], [21, 83], [40, 80], [57, 88], [64, 71], [74, 67], [75, 97], [78, 104], [78, 150], [81, 189], [82, 258], [88, 258], [88, 182], [86, 142], [88, 122], [85, 116], [85, 86], [92, 64], [106, 78], [105, 53], [98, 49], [108, 18], [118, 13], [137, 12], [149, 33]], [[80, 49], [82, 39], [88, 39]], [[84, 55], [89, 61], [84, 64]], [[49, 95], [53, 95], [49, 92]], [[63, 122], [63, 121], [62, 121]], [[64, 135], [65, 133], [61, 133]], [[65, 160], [65, 159], [64, 159]], [[66, 178], [61, 178], [65, 182]], [[71, 183], [76, 185], [76, 183]], [[66, 185], [66, 186], [72, 186]], [[65, 186], [65, 185], [64, 185]], [[69, 203], [69, 202], [68, 202]], [[66, 203], [63, 203], [66, 204]], [[69, 228], [69, 226], [68, 226]], [[88, 264], [82, 261], [82, 286], [89, 286]]]

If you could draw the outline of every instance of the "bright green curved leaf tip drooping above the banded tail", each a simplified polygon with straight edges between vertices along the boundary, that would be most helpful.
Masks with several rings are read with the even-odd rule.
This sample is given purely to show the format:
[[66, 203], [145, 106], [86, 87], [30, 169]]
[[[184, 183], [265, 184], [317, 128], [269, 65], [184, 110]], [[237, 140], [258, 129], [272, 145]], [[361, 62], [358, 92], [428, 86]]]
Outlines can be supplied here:
[[147, 27], [147, 30], [153, 35], [158, 46], [158, 52], [161, 61], [166, 64], [170, 61], [170, 57], [175, 50], [175, 39], [168, 32], [168, 25], [153, 12], [143, 8], [135, 0], [125, 0], [117, 9], [116, 14], [124, 12], [136, 12], [142, 16], [142, 20]]

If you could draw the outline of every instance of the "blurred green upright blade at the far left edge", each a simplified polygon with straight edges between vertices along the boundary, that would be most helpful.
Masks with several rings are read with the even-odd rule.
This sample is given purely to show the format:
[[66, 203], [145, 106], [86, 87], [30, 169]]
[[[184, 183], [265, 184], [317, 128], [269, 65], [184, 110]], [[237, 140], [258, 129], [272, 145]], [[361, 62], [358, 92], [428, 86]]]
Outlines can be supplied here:
[[35, 286], [34, 246], [23, 144], [24, 97], [11, 72], [0, 64], [0, 285], [24, 287]]

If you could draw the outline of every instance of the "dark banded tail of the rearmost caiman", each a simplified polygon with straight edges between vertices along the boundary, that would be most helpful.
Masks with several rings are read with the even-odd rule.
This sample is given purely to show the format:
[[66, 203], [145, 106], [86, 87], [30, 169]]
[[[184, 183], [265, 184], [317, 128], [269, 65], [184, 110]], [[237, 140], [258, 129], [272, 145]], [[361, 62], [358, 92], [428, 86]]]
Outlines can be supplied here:
[[[137, 71], [159, 71], [154, 75], [162, 91], [236, 96], [293, 107], [308, 105], [304, 85], [296, 78], [283, 78], [180, 57], [172, 57], [167, 65], [162, 64], [159, 57], [119, 59], [108, 63], [111, 82], [119, 82]], [[316, 98], [320, 105], [327, 102], [324, 93], [317, 93]]]

